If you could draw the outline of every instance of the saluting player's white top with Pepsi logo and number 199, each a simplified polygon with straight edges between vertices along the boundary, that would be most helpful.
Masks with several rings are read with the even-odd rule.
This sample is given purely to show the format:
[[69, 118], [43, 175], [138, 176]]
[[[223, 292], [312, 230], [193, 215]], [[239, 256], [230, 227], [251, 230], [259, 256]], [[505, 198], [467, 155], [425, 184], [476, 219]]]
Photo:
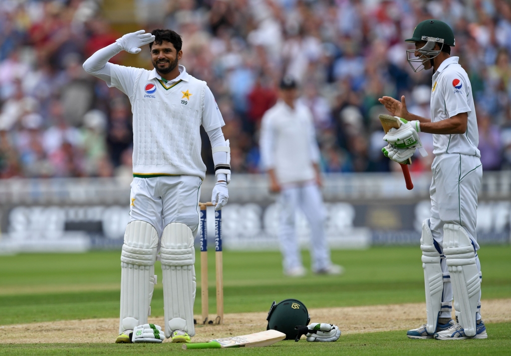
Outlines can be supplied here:
[[[205, 131], [225, 125], [206, 82], [179, 66], [165, 82], [156, 69], [109, 63], [110, 87], [128, 95], [133, 112], [133, 175], [196, 175], [204, 179], [200, 125]], [[108, 84], [108, 82], [107, 82]]]

